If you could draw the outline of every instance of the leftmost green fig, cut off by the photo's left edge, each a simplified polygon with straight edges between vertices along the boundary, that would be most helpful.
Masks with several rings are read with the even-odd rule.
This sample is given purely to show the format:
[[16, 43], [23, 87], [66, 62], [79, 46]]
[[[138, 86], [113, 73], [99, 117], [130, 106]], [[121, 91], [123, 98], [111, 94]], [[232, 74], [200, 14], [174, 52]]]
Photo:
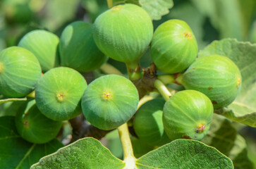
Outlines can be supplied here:
[[41, 77], [37, 58], [27, 49], [12, 46], [0, 53], [0, 93], [23, 97], [32, 92]]

